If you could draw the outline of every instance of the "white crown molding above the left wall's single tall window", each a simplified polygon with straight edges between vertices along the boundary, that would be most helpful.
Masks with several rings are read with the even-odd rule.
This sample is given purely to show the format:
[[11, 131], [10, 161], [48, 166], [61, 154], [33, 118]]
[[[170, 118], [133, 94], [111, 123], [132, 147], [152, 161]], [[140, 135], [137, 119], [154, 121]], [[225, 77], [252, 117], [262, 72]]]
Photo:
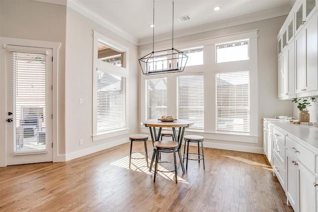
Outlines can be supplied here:
[[135, 36], [125, 32], [120, 27], [115, 26], [114, 24], [110, 23], [109, 21], [105, 20], [101, 16], [94, 13], [92, 10], [87, 9], [82, 4], [80, 4], [76, 0], [67, 0], [67, 6], [76, 10], [80, 14], [86, 16], [87, 18], [95, 21], [96, 23], [102, 25], [103, 27], [111, 30], [112, 32], [116, 33], [117, 35], [123, 37], [124, 39], [132, 42], [133, 44], [138, 45], [138, 39]]

